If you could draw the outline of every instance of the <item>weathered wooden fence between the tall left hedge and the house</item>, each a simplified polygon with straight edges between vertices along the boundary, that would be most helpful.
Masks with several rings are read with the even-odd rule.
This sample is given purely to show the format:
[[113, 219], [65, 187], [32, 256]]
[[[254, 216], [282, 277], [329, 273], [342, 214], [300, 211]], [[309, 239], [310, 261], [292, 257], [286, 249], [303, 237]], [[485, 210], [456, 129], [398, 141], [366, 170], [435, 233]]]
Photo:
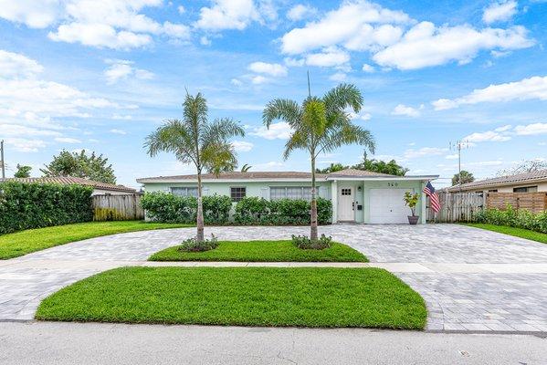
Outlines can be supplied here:
[[91, 199], [94, 221], [133, 221], [144, 219], [140, 194], [94, 195]]

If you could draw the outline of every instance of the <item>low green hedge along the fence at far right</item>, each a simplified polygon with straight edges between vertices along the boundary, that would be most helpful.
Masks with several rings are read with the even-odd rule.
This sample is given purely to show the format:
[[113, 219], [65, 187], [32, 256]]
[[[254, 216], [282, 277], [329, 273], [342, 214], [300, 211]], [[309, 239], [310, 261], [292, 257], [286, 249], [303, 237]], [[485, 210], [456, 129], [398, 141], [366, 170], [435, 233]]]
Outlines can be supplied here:
[[507, 225], [547, 234], [547, 211], [532, 214], [525, 209], [515, 210], [508, 205], [505, 210], [486, 209], [478, 212], [475, 219], [477, 223]]

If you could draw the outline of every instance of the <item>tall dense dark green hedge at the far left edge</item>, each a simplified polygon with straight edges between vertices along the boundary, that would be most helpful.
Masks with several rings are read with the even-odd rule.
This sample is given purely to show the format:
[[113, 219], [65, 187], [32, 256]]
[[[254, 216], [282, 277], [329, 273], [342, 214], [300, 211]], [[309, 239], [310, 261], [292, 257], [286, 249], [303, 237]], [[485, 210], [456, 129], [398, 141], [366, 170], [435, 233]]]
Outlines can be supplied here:
[[90, 222], [92, 192], [82, 185], [0, 183], [0, 234]]

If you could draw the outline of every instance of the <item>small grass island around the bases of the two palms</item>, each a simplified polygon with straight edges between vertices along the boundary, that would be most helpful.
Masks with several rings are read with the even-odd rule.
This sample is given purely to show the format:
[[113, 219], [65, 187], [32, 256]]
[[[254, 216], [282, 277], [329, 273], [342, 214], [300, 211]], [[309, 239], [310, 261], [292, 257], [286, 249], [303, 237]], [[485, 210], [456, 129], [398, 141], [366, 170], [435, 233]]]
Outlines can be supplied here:
[[150, 261], [251, 261], [251, 262], [368, 262], [360, 252], [334, 243], [323, 250], [302, 250], [290, 241], [222, 241], [214, 250], [183, 252], [169, 247], [150, 256]]

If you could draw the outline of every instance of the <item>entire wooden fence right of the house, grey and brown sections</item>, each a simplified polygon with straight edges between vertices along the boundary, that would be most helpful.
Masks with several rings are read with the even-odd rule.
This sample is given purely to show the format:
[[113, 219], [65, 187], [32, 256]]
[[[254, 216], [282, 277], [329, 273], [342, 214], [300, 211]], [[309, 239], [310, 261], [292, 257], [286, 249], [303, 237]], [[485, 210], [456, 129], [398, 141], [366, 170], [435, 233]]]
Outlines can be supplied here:
[[441, 210], [431, 209], [427, 198], [427, 222], [472, 222], [474, 214], [483, 209], [527, 209], [532, 213], [547, 210], [547, 193], [447, 193], [437, 192]]

